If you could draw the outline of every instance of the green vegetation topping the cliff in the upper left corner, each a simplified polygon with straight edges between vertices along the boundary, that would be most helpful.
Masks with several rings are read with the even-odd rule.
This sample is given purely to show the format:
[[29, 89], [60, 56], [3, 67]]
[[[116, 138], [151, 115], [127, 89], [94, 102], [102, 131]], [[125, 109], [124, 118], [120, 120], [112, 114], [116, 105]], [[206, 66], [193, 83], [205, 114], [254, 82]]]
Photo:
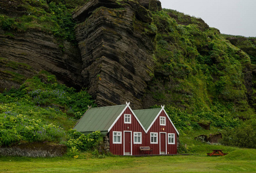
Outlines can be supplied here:
[[[53, 33], [60, 40], [75, 42], [75, 21], [72, 10], [85, 1], [13, 1], [3, 5], [3, 11], [9, 9], [11, 14], [0, 15], [0, 27], [6, 34], [27, 32], [31, 29]], [[2, 2], [3, 4], [6, 2]], [[1, 5], [2, 5], [1, 3]], [[18, 7], [18, 9], [16, 8]], [[6, 9], [5, 9], [6, 8]], [[17, 9], [17, 10], [15, 10]]]

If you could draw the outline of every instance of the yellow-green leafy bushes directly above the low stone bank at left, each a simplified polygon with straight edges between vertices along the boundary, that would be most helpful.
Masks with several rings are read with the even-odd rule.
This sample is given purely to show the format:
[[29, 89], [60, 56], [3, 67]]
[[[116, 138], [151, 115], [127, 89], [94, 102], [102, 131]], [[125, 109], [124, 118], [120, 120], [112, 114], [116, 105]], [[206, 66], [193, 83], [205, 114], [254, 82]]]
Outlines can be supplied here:
[[20, 140], [60, 142], [65, 138], [65, 131], [61, 127], [52, 123], [44, 125], [40, 119], [29, 119], [11, 111], [0, 114], [0, 119], [0, 145], [8, 146]]

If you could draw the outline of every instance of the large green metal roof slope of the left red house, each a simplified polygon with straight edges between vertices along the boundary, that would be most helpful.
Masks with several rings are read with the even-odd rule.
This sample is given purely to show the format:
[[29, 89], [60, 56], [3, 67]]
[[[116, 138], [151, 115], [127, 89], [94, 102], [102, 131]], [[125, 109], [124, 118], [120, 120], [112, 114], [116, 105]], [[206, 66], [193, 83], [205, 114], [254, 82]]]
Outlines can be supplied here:
[[108, 131], [127, 105], [90, 108], [73, 128], [77, 131]]

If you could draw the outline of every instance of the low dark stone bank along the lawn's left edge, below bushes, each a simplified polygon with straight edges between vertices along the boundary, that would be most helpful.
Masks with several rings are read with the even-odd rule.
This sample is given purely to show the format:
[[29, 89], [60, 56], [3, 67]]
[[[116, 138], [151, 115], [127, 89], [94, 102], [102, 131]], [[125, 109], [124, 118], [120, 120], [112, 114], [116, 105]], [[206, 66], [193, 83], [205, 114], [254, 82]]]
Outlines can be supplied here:
[[66, 149], [65, 145], [49, 142], [24, 142], [10, 147], [1, 147], [0, 156], [57, 157], [63, 156]]

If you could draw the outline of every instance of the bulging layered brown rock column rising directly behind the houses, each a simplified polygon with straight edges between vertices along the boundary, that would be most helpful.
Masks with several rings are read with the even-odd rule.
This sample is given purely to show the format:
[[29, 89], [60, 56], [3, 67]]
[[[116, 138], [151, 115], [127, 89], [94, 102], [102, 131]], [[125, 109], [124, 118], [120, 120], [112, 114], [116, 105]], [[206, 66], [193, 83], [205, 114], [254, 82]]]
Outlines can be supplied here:
[[154, 67], [156, 33], [150, 12], [135, 1], [93, 0], [73, 17], [79, 22], [83, 83], [98, 106], [132, 101], [142, 107]]

